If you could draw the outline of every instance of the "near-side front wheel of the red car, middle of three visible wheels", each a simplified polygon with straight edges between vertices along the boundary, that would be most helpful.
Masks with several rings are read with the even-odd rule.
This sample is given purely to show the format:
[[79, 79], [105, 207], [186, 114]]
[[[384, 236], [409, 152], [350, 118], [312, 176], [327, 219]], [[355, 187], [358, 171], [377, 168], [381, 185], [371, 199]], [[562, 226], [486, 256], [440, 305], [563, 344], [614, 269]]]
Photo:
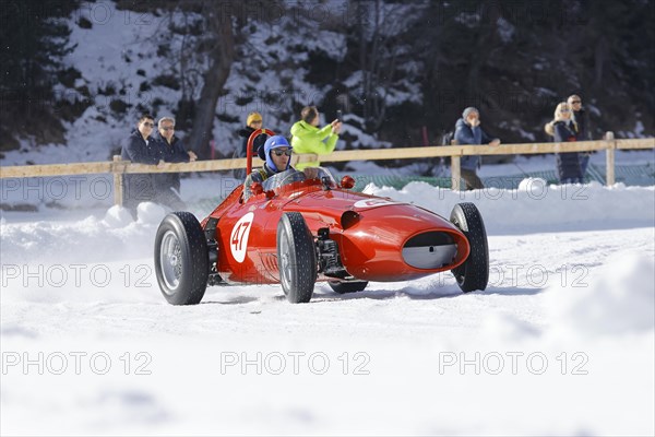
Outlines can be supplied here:
[[277, 264], [287, 300], [308, 303], [317, 282], [317, 251], [299, 212], [286, 212], [277, 223]]

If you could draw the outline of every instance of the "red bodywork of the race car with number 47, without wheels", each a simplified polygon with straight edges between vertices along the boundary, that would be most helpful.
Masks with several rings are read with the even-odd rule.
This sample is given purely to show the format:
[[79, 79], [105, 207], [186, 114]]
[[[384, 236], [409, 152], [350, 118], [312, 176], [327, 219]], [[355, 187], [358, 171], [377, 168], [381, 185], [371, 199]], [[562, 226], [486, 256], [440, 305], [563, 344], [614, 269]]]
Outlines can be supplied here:
[[[279, 282], [277, 223], [284, 212], [300, 212], [314, 238], [329, 228], [346, 271], [362, 281], [405, 281], [451, 270], [466, 260], [469, 245], [448, 220], [419, 206], [327, 187], [319, 179], [291, 182], [242, 200], [235, 189], [202, 222], [216, 218], [216, 270], [228, 283]], [[424, 233], [445, 234], [456, 251], [448, 263], [416, 268], [404, 258], [405, 244]], [[431, 250], [431, 248], [430, 248]], [[416, 257], [416, 256], [415, 256]], [[415, 258], [416, 259], [416, 258]], [[318, 281], [330, 277], [319, 274]]]

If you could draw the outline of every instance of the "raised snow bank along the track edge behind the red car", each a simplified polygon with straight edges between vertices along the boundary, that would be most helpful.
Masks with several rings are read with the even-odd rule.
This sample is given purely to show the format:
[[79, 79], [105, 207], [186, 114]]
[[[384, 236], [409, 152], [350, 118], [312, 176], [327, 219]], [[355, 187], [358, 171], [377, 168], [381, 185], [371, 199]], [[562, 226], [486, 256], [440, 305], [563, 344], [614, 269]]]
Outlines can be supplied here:
[[[186, 192], [195, 198], [203, 193], [223, 196], [234, 189], [233, 179], [225, 178], [211, 190], [207, 187], [215, 184], [205, 179], [187, 184]], [[516, 190], [489, 188], [453, 192], [412, 182], [403, 190], [370, 185], [365, 192], [412, 202], [445, 217], [450, 217], [456, 203], [474, 202], [483, 213], [489, 235], [651, 227], [655, 224], [655, 187], [620, 184], [609, 188], [598, 184], [547, 186], [543, 179], [528, 179]], [[217, 202], [203, 208], [199, 218], [203, 218]], [[81, 212], [83, 210], [76, 214]], [[154, 232], [164, 215], [165, 211], [152, 203], [140, 205], [135, 222], [127, 211], [116, 206], [100, 210], [99, 216], [96, 213], [78, 221], [68, 221], [68, 214], [64, 214], [59, 221], [23, 222], [33, 220], [34, 215], [2, 213], [2, 256], [12, 261], [52, 257], [85, 261], [150, 257]]]

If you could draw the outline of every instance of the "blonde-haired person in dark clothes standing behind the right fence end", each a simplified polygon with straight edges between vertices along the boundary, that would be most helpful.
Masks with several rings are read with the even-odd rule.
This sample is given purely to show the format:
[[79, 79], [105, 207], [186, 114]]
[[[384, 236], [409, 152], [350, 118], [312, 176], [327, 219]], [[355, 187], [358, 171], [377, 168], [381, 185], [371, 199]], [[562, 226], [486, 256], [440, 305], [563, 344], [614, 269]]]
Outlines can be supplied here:
[[[577, 126], [573, 121], [571, 107], [562, 102], [555, 108], [553, 120], [546, 125], [545, 130], [552, 135], [556, 143], [575, 141]], [[557, 173], [561, 184], [582, 182], [582, 168], [577, 152], [557, 153]]]

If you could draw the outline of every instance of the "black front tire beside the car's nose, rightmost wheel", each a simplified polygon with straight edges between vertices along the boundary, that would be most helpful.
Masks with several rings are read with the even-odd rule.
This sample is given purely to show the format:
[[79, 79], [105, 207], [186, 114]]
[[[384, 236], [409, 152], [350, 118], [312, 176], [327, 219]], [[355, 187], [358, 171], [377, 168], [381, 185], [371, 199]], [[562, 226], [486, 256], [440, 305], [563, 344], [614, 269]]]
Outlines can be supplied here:
[[480, 212], [473, 203], [457, 203], [450, 221], [462, 231], [471, 246], [463, 264], [451, 270], [464, 293], [487, 288], [489, 282], [489, 245]]

